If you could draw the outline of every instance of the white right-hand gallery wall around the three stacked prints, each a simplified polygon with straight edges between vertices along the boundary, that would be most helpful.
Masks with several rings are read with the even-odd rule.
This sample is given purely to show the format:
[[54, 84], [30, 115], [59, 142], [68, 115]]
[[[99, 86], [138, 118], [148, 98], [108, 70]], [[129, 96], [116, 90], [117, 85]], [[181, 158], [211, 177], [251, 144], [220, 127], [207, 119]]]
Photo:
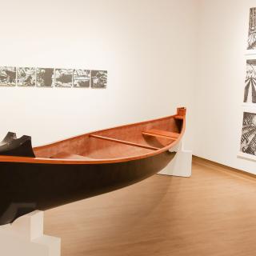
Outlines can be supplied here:
[[256, 174], [238, 158], [252, 0], [199, 0], [194, 154]]

